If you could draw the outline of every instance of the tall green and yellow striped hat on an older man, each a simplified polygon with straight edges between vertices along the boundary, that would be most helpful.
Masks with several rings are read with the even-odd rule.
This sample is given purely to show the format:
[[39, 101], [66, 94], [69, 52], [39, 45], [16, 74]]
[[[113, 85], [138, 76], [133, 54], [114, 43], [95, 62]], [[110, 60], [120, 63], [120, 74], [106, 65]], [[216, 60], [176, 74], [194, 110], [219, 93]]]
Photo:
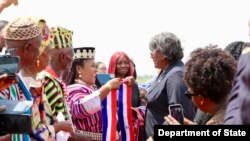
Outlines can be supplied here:
[[50, 29], [50, 34], [52, 49], [72, 47], [72, 31], [58, 26], [52, 27]]

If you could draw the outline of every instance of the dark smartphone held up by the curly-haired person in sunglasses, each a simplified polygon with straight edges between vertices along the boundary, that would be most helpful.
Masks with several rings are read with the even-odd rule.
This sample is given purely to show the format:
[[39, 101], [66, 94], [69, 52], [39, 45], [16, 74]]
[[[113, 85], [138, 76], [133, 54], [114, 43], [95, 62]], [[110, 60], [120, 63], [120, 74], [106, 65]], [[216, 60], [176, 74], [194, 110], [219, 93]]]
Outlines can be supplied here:
[[184, 114], [181, 104], [171, 104], [168, 106], [169, 114], [175, 118], [180, 124], [183, 124]]

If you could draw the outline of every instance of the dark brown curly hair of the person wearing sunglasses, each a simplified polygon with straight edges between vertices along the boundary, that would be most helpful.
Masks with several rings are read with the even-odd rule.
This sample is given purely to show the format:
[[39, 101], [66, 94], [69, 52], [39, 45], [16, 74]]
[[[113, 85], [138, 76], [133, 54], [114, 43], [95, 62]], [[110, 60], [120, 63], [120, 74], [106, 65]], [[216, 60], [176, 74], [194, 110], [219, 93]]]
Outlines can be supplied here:
[[221, 48], [209, 45], [191, 53], [184, 70], [184, 81], [194, 93], [218, 104], [229, 94], [235, 72], [235, 59]]

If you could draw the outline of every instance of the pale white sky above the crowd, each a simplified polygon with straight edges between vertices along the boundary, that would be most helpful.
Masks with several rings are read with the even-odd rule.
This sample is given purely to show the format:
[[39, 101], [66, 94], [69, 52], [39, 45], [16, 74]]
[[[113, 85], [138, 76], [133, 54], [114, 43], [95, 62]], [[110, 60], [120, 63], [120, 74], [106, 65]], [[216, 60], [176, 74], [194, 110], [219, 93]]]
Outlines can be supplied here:
[[249, 41], [247, 0], [20, 0], [1, 19], [36, 16], [49, 26], [73, 30], [73, 45], [96, 47], [96, 61], [107, 65], [115, 51], [134, 59], [139, 75], [156, 73], [148, 48], [151, 37], [175, 33], [189, 53], [209, 43], [224, 48]]

